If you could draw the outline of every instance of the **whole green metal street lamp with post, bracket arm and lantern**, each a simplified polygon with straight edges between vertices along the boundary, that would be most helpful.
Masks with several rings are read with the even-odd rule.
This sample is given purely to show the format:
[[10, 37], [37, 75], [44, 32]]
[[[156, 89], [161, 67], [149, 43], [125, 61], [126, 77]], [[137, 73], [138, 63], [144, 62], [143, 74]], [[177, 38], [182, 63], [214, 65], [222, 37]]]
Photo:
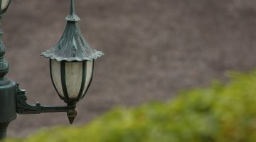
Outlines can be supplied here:
[[[1, 11], [8, 9], [11, 0], [0, 0]], [[77, 111], [76, 104], [85, 97], [92, 81], [94, 62], [104, 55], [90, 47], [82, 36], [75, 13], [74, 0], [71, 0], [70, 13], [65, 18], [67, 25], [63, 36], [55, 47], [41, 55], [50, 60], [50, 77], [60, 99], [67, 104], [63, 107], [48, 107], [40, 103], [28, 104], [25, 90], [18, 83], [4, 77], [9, 71], [8, 62], [4, 59], [5, 47], [1, 41], [3, 32], [0, 29], [0, 139], [6, 136], [6, 129], [18, 114], [41, 114], [46, 112], [67, 112], [70, 124]]]

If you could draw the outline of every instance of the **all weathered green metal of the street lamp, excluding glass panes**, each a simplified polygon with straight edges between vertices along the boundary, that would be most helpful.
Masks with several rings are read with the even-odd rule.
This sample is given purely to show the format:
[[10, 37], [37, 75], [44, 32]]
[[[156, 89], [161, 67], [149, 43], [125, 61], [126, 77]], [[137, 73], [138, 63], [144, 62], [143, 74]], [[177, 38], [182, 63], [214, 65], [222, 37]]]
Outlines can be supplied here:
[[[9, 1], [9, 4], [11, 0]], [[0, 8], [1, 8], [2, 0], [0, 0]], [[9, 4], [6, 9], [0, 9], [0, 21], [3, 14], [9, 8]], [[80, 31], [80, 27], [78, 25], [78, 21], [80, 18], [75, 13], [75, 5], [74, 1], [71, 0], [70, 13], [65, 18], [67, 22], [67, 26], [63, 33], [62, 38], [58, 42], [54, 48], [47, 50], [41, 55], [46, 58], [50, 58], [50, 60], [58, 60], [60, 62], [82, 62], [82, 87], [80, 88], [80, 93], [77, 99], [69, 99], [66, 98], [67, 94], [65, 94], [65, 102], [67, 102], [67, 106], [63, 107], [51, 107], [51, 106], [43, 106], [39, 102], [36, 104], [28, 104], [26, 102], [27, 96], [26, 92], [23, 89], [18, 87], [18, 83], [7, 79], [4, 77], [9, 72], [9, 64], [4, 58], [4, 54], [6, 53], [6, 48], [4, 43], [1, 40], [3, 35], [3, 31], [0, 27], [0, 141], [2, 138], [6, 137], [6, 129], [11, 121], [16, 119], [16, 114], [41, 114], [48, 112], [66, 112], [70, 124], [73, 123], [75, 116], [77, 116], [77, 111], [75, 111], [76, 102], [78, 102], [82, 97], [85, 96], [87, 89], [90, 87], [90, 82], [88, 84], [85, 93], [82, 94], [84, 90], [85, 84], [85, 75], [86, 75], [86, 62], [92, 61], [92, 76], [93, 76], [93, 65], [94, 60], [102, 55], [101, 51], [97, 51], [94, 48], [91, 48], [85, 41], [85, 38], [82, 36]], [[1, 25], [1, 23], [0, 23]], [[51, 67], [51, 65], [50, 65]], [[65, 71], [65, 65], [63, 65], [63, 72]], [[51, 70], [51, 68], [50, 68]], [[63, 73], [63, 80], [65, 80], [65, 72]], [[52, 75], [51, 75], [52, 77]], [[65, 82], [63, 82], [63, 86], [65, 86]], [[57, 90], [57, 89], [56, 89]], [[58, 90], [57, 90], [58, 91]], [[66, 92], [63, 90], [63, 92]]]

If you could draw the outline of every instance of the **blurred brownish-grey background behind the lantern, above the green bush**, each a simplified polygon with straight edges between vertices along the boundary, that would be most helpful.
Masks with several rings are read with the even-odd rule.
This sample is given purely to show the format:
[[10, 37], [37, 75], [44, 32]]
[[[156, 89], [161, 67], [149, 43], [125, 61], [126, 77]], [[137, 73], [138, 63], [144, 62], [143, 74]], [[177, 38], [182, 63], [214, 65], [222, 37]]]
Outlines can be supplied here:
[[[181, 89], [225, 80], [227, 70], [256, 65], [254, 0], [76, 0], [87, 42], [97, 60], [75, 125], [116, 105], [166, 100]], [[2, 21], [8, 77], [21, 82], [28, 102], [61, 105], [39, 55], [60, 39], [69, 0], [13, 0]], [[9, 136], [69, 125], [66, 114], [19, 115]]]

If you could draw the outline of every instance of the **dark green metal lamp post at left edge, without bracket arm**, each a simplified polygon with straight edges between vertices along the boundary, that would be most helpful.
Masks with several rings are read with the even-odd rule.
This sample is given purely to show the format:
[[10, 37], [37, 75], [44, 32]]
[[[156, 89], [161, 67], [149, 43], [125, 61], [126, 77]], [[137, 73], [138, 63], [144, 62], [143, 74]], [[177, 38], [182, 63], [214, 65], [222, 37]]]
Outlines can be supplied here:
[[[9, 1], [9, 4], [11, 0]], [[0, 0], [1, 8], [2, 0]], [[1, 18], [9, 7], [0, 10], [0, 26]], [[4, 58], [6, 48], [2, 41], [3, 31], [0, 27], [0, 140], [6, 137], [7, 127], [11, 121], [16, 119], [16, 83], [6, 79], [4, 75], [9, 72], [9, 64]]]

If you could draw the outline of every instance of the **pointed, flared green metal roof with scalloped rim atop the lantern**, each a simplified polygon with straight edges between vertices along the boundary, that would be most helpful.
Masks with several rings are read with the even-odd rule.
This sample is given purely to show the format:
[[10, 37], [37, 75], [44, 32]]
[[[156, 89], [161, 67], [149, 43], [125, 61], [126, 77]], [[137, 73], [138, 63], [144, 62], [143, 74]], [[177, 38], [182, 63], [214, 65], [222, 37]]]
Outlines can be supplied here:
[[41, 55], [52, 60], [67, 62], [91, 61], [104, 55], [101, 51], [90, 47], [85, 41], [78, 25], [80, 18], [75, 13], [74, 0], [71, 0], [70, 13], [65, 19], [68, 22], [60, 41], [55, 47], [46, 50]]

